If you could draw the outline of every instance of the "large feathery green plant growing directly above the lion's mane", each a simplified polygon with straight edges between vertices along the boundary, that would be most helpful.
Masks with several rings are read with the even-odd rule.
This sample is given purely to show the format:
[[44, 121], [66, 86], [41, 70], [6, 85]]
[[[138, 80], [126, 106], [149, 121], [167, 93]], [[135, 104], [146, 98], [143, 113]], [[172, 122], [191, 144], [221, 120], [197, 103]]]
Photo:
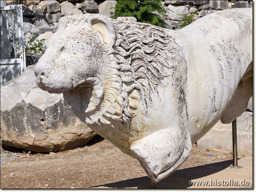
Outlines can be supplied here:
[[163, 27], [161, 19], [166, 13], [161, 4], [162, 1], [117, 1], [114, 7], [115, 13], [111, 18], [135, 17], [138, 22], [149, 23]]

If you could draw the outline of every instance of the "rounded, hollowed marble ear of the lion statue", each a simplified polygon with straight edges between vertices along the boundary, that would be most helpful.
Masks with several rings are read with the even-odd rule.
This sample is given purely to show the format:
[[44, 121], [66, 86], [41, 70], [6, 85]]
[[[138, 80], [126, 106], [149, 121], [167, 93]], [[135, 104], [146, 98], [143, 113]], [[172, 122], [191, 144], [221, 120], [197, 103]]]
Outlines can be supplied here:
[[112, 23], [103, 15], [92, 20], [92, 28], [103, 36], [104, 43], [113, 46], [116, 43], [116, 32]]

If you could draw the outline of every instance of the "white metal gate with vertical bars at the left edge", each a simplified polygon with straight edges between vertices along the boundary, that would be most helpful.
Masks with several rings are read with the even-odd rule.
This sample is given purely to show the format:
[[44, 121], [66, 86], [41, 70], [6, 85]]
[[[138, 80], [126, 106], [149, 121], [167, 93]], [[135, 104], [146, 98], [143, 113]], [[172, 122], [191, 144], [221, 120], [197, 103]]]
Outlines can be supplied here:
[[[12, 22], [8, 22], [8, 14], [11, 13]], [[17, 24], [18, 24], [18, 38], [19, 38], [19, 46], [16, 45], [16, 37], [15, 33], [15, 19], [14, 15], [17, 14]], [[6, 65], [20, 65], [20, 73], [22, 73], [26, 68], [26, 58], [25, 58], [25, 46], [24, 46], [24, 34], [23, 34], [23, 18], [22, 18], [22, 5], [7, 5], [1, 6], [1, 67]], [[12, 37], [12, 46], [14, 46], [14, 55], [11, 55], [11, 42], [10, 42], [10, 26], [13, 30]], [[17, 49], [18, 48], [18, 49]], [[1, 68], [2, 70], [2, 68]], [[1, 86], [6, 81], [11, 79], [3, 80], [1, 71]], [[5, 82], [3, 82], [5, 81]]]

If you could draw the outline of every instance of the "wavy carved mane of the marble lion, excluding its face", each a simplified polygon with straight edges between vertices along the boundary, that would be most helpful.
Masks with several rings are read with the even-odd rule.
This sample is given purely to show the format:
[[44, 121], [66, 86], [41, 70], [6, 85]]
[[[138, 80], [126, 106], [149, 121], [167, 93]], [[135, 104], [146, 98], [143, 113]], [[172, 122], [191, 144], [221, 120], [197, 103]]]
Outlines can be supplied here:
[[[118, 143], [116, 146], [124, 153], [133, 156], [130, 146], [144, 129], [144, 116], [150, 118], [148, 107], [154, 109], [152, 95], [157, 96], [157, 86], [169, 76], [165, 69], [176, 70], [183, 58], [176, 54], [180, 47], [163, 28], [147, 23], [108, 20], [115, 29], [116, 42], [111, 48], [106, 46], [102, 53], [105, 63], [111, 66], [106, 69], [103, 80], [104, 100], [100, 109], [93, 113], [81, 114], [75, 110], [74, 113], [114, 145]], [[96, 30], [92, 33], [100, 38]]]

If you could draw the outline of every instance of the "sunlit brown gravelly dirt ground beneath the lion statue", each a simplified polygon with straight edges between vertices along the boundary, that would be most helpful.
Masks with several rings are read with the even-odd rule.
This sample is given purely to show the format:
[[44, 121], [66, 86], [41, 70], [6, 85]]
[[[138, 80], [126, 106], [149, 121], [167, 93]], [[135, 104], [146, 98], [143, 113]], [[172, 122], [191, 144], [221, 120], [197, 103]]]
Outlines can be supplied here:
[[[28, 151], [9, 150], [1, 148], [1, 188], [91, 188], [147, 176], [136, 159], [100, 136], [84, 147], [56, 154], [27, 155]], [[191, 155], [178, 170], [232, 158], [232, 153], [200, 149], [194, 144]], [[132, 187], [140, 188], [132, 183]]]

